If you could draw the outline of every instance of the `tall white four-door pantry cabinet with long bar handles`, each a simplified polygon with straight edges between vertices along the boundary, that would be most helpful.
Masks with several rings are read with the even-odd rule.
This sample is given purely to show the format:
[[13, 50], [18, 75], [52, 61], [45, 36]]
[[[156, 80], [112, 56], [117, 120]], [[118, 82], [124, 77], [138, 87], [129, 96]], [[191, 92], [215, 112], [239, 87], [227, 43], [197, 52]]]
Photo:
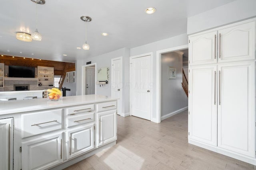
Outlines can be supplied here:
[[251, 19], [189, 36], [188, 142], [256, 164]]

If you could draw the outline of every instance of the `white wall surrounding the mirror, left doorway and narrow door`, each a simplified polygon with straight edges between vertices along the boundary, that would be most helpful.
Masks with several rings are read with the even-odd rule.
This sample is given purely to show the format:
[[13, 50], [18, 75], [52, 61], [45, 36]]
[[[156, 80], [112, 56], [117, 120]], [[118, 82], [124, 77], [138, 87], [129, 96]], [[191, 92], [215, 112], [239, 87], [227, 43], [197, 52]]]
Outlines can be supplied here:
[[96, 63], [96, 70], [100, 67], [109, 67], [110, 68], [110, 80], [108, 84], [104, 86], [96, 85], [96, 94], [111, 96], [111, 59], [116, 57], [123, 57], [123, 103], [122, 112], [129, 112], [129, 57], [130, 57], [130, 49], [122, 48], [116, 51], [112, 51], [106, 54], [102, 54], [96, 57], [91, 57], [86, 60], [78, 60], [76, 61], [76, 89], [77, 95], [82, 95], [82, 66], [86, 65], [86, 62], [91, 61], [92, 63]]

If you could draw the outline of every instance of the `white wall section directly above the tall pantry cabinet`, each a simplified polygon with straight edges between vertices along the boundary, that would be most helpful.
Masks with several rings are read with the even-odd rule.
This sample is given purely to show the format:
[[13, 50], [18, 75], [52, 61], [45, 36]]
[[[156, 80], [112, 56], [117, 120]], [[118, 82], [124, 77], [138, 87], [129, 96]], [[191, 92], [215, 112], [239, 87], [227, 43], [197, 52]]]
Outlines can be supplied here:
[[188, 35], [256, 16], [256, 0], [236, 0], [188, 18]]

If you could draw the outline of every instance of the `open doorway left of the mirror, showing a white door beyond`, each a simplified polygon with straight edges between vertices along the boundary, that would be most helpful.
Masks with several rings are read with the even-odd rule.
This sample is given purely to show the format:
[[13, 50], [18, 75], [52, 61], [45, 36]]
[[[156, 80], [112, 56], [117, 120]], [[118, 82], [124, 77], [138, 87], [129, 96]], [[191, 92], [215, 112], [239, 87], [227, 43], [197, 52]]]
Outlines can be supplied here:
[[96, 94], [96, 63], [82, 66], [82, 94]]

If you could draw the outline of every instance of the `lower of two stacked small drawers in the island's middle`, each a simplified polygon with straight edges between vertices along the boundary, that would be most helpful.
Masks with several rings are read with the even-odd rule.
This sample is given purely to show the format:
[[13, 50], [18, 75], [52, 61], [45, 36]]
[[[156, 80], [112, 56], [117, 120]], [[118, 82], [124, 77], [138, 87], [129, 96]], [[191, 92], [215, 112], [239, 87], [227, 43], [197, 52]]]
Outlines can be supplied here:
[[81, 113], [79, 115], [68, 115], [67, 126], [81, 125], [94, 121], [94, 112]]

